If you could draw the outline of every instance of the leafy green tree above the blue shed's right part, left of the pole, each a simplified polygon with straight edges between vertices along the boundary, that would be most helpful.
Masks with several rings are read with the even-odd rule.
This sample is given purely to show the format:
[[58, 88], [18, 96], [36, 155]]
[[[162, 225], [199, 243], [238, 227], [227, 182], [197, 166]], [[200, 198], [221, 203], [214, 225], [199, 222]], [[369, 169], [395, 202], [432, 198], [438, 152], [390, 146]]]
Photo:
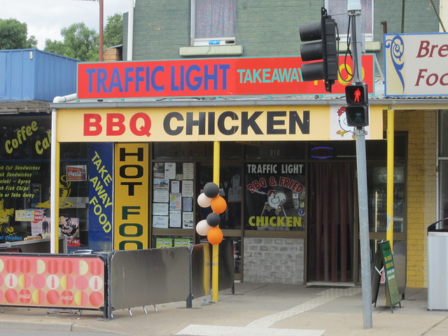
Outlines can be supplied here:
[[99, 36], [94, 29], [88, 29], [85, 23], [73, 23], [70, 27], [62, 28], [61, 35], [64, 41], [45, 40], [45, 51], [55, 52], [59, 55], [93, 62], [99, 59]]

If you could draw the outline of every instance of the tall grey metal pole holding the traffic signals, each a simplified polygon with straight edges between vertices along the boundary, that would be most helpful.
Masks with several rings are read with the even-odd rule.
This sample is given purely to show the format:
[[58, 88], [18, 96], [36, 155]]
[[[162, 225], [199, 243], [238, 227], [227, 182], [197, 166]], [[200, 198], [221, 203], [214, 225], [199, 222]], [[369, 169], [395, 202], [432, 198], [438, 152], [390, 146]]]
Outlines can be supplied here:
[[[353, 1], [349, 1], [353, 2]], [[361, 38], [359, 7], [350, 8], [347, 11], [351, 17], [351, 43], [353, 52], [353, 82], [363, 83], [361, 64]], [[359, 9], [358, 9], [359, 8]], [[356, 167], [358, 172], [358, 212], [359, 212], [359, 236], [361, 258], [361, 281], [363, 293], [363, 317], [364, 329], [372, 329], [372, 283], [370, 277], [370, 244], [369, 244], [369, 216], [367, 201], [367, 165], [365, 160], [365, 129], [356, 127]]]

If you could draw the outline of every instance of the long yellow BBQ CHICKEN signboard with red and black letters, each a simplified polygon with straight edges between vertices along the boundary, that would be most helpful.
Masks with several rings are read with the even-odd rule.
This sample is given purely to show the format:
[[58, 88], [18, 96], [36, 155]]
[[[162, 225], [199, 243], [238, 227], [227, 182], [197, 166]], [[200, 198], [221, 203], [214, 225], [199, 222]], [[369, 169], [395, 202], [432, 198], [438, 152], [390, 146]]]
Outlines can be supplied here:
[[[61, 109], [57, 112], [57, 141], [350, 139], [349, 134], [351, 135], [353, 128], [346, 127], [344, 118], [343, 106], [318, 105]], [[382, 139], [381, 106], [370, 106], [370, 126], [367, 127], [367, 134], [367, 139]]]

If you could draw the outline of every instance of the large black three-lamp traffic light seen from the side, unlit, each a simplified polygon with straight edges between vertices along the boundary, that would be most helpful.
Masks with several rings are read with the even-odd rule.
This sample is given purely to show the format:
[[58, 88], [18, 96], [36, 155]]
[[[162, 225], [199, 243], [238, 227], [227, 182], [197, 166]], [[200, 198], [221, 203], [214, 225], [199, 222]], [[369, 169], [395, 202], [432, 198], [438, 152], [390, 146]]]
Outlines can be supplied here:
[[[325, 80], [325, 90], [331, 92], [331, 85], [337, 79], [338, 56], [336, 45], [336, 22], [327, 15], [327, 10], [321, 8], [321, 22], [311, 22], [299, 27], [300, 56], [302, 61], [321, 62], [302, 64], [302, 78], [304, 81]], [[319, 41], [320, 40], [320, 41]]]

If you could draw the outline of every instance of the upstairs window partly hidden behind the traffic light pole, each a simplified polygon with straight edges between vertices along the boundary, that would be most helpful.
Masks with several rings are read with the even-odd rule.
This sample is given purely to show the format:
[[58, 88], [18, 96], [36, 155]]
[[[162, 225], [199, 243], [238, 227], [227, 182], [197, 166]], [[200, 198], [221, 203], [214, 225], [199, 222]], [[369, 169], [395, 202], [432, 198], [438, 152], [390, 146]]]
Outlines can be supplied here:
[[[358, 16], [361, 20], [362, 33], [366, 41], [373, 39], [373, 0], [360, 0], [363, 15]], [[347, 0], [325, 0], [325, 8], [328, 14], [337, 22], [339, 36], [347, 36], [349, 27], [349, 15], [347, 15]], [[351, 34], [351, 33], [349, 33]], [[344, 39], [342, 39], [344, 42]]]

